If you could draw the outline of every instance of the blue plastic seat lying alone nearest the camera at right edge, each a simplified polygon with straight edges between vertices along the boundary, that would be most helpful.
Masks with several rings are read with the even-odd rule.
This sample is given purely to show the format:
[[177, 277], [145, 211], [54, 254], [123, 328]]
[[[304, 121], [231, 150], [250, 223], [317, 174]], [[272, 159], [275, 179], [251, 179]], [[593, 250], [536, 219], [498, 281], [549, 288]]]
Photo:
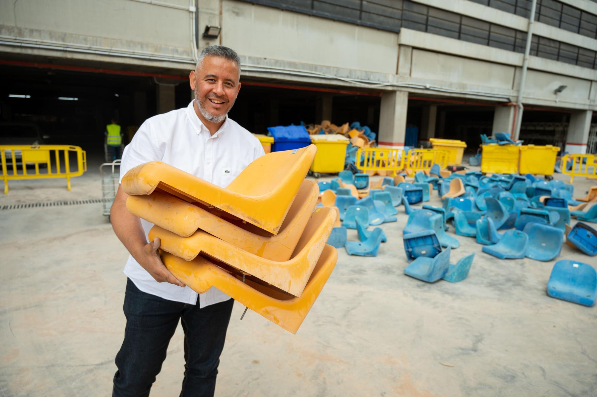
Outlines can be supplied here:
[[547, 294], [556, 299], [593, 306], [597, 297], [597, 272], [587, 263], [558, 260], [547, 281]]

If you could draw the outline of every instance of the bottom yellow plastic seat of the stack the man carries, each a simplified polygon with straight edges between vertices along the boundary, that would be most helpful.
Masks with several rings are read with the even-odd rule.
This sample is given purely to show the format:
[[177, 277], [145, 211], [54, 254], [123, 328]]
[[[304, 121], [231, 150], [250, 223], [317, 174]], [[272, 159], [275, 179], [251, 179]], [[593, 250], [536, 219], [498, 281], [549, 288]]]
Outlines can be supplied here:
[[242, 275], [226, 271], [224, 268], [198, 257], [187, 262], [169, 253], [162, 252], [162, 262], [176, 278], [197, 293], [216, 287], [242, 305], [267, 318], [280, 327], [296, 334], [311, 306], [324, 288], [326, 281], [336, 266], [338, 252], [326, 245], [304, 287], [301, 297], [294, 297], [272, 286], [251, 280], [242, 282]]

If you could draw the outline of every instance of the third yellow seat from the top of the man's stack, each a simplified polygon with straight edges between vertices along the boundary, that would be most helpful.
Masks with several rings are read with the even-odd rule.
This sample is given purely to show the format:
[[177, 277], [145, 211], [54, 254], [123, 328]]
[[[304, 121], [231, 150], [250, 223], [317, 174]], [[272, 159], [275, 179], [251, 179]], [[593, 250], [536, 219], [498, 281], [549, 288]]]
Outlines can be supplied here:
[[334, 221], [336, 221], [336, 210], [316, 207], [304, 228], [303, 235], [298, 240], [293, 255], [284, 262], [261, 258], [201, 230], [196, 231], [191, 237], [180, 237], [154, 226], [149, 231], [149, 240], [159, 237], [162, 250], [184, 260], [193, 260], [201, 253], [251, 274], [294, 296], [301, 296], [334, 227]]

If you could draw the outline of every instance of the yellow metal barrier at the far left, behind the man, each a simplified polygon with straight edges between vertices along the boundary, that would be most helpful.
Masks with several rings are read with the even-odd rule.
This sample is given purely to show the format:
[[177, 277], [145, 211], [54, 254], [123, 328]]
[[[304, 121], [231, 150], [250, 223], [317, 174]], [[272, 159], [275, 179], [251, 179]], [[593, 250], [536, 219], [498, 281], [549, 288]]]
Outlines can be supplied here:
[[[76, 154], [76, 171], [70, 170], [70, 153]], [[11, 179], [66, 178], [66, 184], [70, 190], [70, 178], [82, 175], [87, 171], [87, 156], [85, 151], [78, 146], [0, 145], [0, 156], [2, 157], [4, 194], [8, 193], [8, 181]], [[61, 162], [64, 163], [64, 167], [61, 166]], [[40, 164], [45, 164], [45, 173], [39, 172]], [[32, 170], [27, 172], [27, 165], [35, 166], [35, 172]]]

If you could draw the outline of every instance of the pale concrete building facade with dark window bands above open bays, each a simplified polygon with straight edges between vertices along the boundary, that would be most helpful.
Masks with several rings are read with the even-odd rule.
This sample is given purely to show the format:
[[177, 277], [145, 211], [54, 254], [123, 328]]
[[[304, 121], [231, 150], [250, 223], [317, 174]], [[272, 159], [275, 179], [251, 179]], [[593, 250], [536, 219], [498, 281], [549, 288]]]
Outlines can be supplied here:
[[[565, 125], [562, 149], [585, 153], [597, 110], [597, 1], [537, 0], [533, 20], [532, 7], [531, 0], [1, 2], [0, 67], [24, 76], [36, 68], [152, 79], [161, 113], [174, 108], [174, 87], [198, 51], [221, 44], [241, 55], [245, 86], [315, 92], [313, 118], [331, 118], [338, 101], [355, 98], [363, 117], [376, 119], [380, 145], [404, 145], [413, 106], [423, 142], [446, 136], [456, 117], [450, 111], [462, 107], [491, 114], [483, 121], [490, 132], [513, 136], [529, 111], [555, 114]], [[217, 38], [204, 37], [207, 26], [221, 28]], [[135, 108], [147, 101], [131, 92]], [[253, 125], [276, 122], [277, 103], [270, 98]], [[150, 115], [131, 111], [143, 113], [136, 123]]]

